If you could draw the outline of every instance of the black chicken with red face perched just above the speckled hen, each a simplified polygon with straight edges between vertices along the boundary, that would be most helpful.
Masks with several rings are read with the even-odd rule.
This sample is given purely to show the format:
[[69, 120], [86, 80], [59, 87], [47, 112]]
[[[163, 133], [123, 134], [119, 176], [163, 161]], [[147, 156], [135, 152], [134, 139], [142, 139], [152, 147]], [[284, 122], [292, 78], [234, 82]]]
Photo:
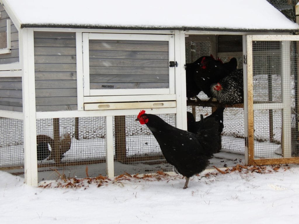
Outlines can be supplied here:
[[208, 96], [212, 97], [210, 85], [219, 82], [229, 73], [237, 69], [237, 59], [232, 58], [229, 62], [223, 63], [211, 56], [202, 56], [198, 60], [194, 72], [196, 85]]

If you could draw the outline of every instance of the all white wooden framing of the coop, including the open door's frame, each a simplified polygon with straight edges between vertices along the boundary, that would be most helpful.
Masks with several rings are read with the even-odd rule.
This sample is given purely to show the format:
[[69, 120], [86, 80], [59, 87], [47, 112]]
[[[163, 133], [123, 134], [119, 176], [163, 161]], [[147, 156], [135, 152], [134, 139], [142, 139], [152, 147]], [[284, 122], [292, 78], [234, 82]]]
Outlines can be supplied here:
[[[76, 31], [76, 52], [77, 52], [77, 99], [78, 99], [78, 110], [77, 111], [54, 111], [54, 112], [37, 112], [35, 103], [35, 72], [34, 72], [34, 43], [33, 43], [33, 32], [34, 31], [48, 31], [44, 28], [27, 28], [21, 29], [19, 32], [20, 36], [20, 70], [13, 70], [10, 72], [12, 77], [22, 77], [22, 89], [23, 89], [23, 113], [21, 112], [5, 112], [2, 111], [1, 115], [8, 118], [23, 119], [24, 125], [24, 169], [25, 169], [25, 182], [29, 185], [36, 186], [38, 184], [38, 170], [36, 160], [36, 119], [44, 118], [67, 118], [67, 117], [88, 117], [88, 116], [105, 116], [106, 117], [106, 165], [107, 175], [109, 177], [114, 176], [114, 155], [113, 155], [113, 116], [121, 115], [137, 115], [140, 109], [150, 110], [150, 113], [163, 114], [173, 113], [176, 114], [176, 126], [178, 128], [186, 129], [186, 100], [185, 100], [185, 35], [186, 34], [233, 34], [243, 35], [243, 54], [246, 56], [247, 64], [243, 65], [244, 68], [244, 111], [245, 111], [245, 138], [248, 138], [248, 144], [245, 144], [245, 163], [246, 164], [273, 164], [273, 163], [291, 163], [299, 162], [298, 157], [290, 157], [291, 155], [291, 135], [289, 122], [291, 120], [290, 112], [290, 96], [286, 91], [282, 91], [282, 102], [281, 103], [253, 103], [253, 87], [252, 87], [252, 42], [254, 41], [281, 41], [283, 42], [282, 47], [282, 60], [286, 63], [282, 63], [285, 66], [282, 70], [289, 70], [289, 42], [299, 42], [299, 36], [295, 35], [248, 35], [247, 33], [231, 33], [231, 32], [202, 32], [202, 31], [134, 31], [134, 35], [124, 35], [132, 33], [131, 30], [127, 32], [121, 31], [121, 33], [115, 33], [113, 30], [73, 30]], [[62, 29], [53, 28], [51, 31], [61, 32]], [[132, 102], [126, 102], [128, 96], [112, 96], [106, 92], [107, 96], [94, 96], [92, 91], [84, 89], [83, 86], [86, 79], [83, 80], [84, 76], [84, 47], [87, 45], [82, 44], [84, 39], [100, 38], [98, 33], [105, 32], [111, 33], [111, 38], [115, 36], [123, 36], [128, 38], [139, 38], [139, 35], [152, 34], [154, 38], [163, 38], [167, 36], [170, 40], [170, 45], [173, 45], [173, 54], [175, 57], [170, 55], [170, 59], [178, 61], [178, 67], [173, 67], [173, 75], [170, 73], [170, 88], [168, 90], [154, 90], [152, 94], [142, 95], [142, 92], [131, 93], [129, 98]], [[165, 36], [164, 36], [165, 35]], [[109, 36], [109, 35], [107, 35]], [[106, 37], [107, 37], [106, 36]], [[21, 38], [22, 37], [22, 38]], [[146, 39], [148, 37], [145, 37]], [[174, 39], [174, 41], [172, 40]], [[21, 41], [22, 40], [22, 41]], [[6, 67], [3, 69], [6, 69]], [[9, 68], [8, 68], [9, 69]], [[16, 67], [14, 67], [16, 69]], [[22, 70], [21, 70], [22, 69]], [[289, 73], [282, 74], [282, 89], [289, 89], [290, 80]], [[0, 73], [0, 76], [7, 76], [7, 73]], [[82, 77], [82, 79], [80, 79]], [[84, 93], [86, 91], [86, 93]], [[130, 90], [132, 91], [132, 90]], [[163, 92], [166, 91], [166, 92]], [[102, 93], [101, 93], [102, 94]], [[103, 94], [102, 94], [103, 95]], [[139, 101], [144, 99], [144, 102], [134, 104], [133, 101]], [[117, 100], [117, 101], [116, 101]], [[146, 102], [151, 101], [151, 102]], [[153, 102], [152, 102], [153, 101]], [[100, 102], [100, 103], [99, 103]], [[118, 102], [118, 103], [111, 103]], [[165, 103], [164, 103], [165, 102]], [[158, 103], [158, 105], [155, 105]], [[161, 105], [162, 103], [162, 105]], [[99, 105], [115, 106], [116, 109], [101, 108]], [[84, 110], [86, 106], [87, 110]], [[124, 107], [123, 107], [124, 106]], [[90, 107], [90, 109], [88, 109]], [[282, 109], [283, 110], [283, 158], [280, 159], [255, 159], [254, 158], [254, 138], [253, 138], [253, 111], [255, 109]]]

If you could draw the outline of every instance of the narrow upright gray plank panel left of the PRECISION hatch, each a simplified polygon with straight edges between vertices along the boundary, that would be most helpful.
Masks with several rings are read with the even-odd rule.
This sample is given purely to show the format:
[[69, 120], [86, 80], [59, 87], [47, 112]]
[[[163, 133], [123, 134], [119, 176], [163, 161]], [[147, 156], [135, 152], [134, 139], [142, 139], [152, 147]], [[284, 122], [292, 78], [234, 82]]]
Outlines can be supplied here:
[[36, 111], [77, 110], [75, 33], [34, 32]]

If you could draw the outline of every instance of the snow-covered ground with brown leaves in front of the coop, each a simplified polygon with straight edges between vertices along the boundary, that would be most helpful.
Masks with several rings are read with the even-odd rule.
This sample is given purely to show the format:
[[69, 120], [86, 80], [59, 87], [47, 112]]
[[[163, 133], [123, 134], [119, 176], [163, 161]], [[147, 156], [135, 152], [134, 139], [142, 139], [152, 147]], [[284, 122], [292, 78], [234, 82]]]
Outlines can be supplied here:
[[206, 170], [184, 190], [177, 174], [60, 179], [35, 188], [0, 171], [1, 223], [296, 222], [299, 165], [227, 172]]

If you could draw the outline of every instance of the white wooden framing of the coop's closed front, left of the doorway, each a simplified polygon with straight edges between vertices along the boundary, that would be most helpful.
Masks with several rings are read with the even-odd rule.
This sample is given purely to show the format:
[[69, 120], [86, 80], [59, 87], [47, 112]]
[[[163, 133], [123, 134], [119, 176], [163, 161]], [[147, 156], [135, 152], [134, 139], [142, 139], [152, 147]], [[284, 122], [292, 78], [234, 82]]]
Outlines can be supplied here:
[[[186, 100], [185, 100], [185, 32], [174, 31], [151, 31], [151, 30], [71, 30], [76, 31], [76, 64], [77, 64], [77, 111], [54, 111], [38, 112], [35, 102], [35, 72], [34, 72], [34, 32], [49, 31], [44, 28], [27, 28], [21, 30], [22, 35], [22, 58], [23, 66], [23, 125], [24, 125], [24, 170], [25, 182], [29, 185], [38, 185], [37, 152], [36, 148], [36, 120], [45, 118], [68, 118], [68, 117], [106, 117], [106, 174], [114, 177], [114, 154], [113, 154], [113, 116], [137, 115], [140, 109], [145, 109], [153, 114], [176, 114], [176, 127], [187, 129], [186, 123]], [[61, 28], [52, 28], [50, 31], [65, 31]], [[69, 32], [70, 30], [68, 30]], [[103, 35], [102, 33], [105, 33]], [[128, 33], [128, 34], [127, 34]], [[132, 34], [133, 33], [133, 34]], [[147, 89], [147, 93], [140, 90], [128, 89], [129, 95], [123, 95], [126, 90], [90, 91], [86, 86], [88, 68], [86, 51], [88, 51], [89, 39], [141, 39], [141, 40], [167, 40], [169, 42], [169, 60], [178, 61], [178, 66], [170, 67], [169, 88]], [[21, 40], [21, 38], [20, 38]], [[85, 54], [84, 54], [85, 50]], [[85, 85], [84, 85], [85, 84]], [[86, 88], [87, 87], [87, 88]], [[147, 94], [147, 95], [145, 95]], [[103, 96], [104, 95], [104, 96]], [[105, 96], [106, 95], [106, 96]], [[129, 99], [129, 102], [128, 102]], [[142, 101], [137, 102], [136, 101]], [[99, 103], [100, 102], [100, 103]], [[117, 103], [114, 103], [117, 102]], [[104, 105], [104, 106], [103, 106]]]

